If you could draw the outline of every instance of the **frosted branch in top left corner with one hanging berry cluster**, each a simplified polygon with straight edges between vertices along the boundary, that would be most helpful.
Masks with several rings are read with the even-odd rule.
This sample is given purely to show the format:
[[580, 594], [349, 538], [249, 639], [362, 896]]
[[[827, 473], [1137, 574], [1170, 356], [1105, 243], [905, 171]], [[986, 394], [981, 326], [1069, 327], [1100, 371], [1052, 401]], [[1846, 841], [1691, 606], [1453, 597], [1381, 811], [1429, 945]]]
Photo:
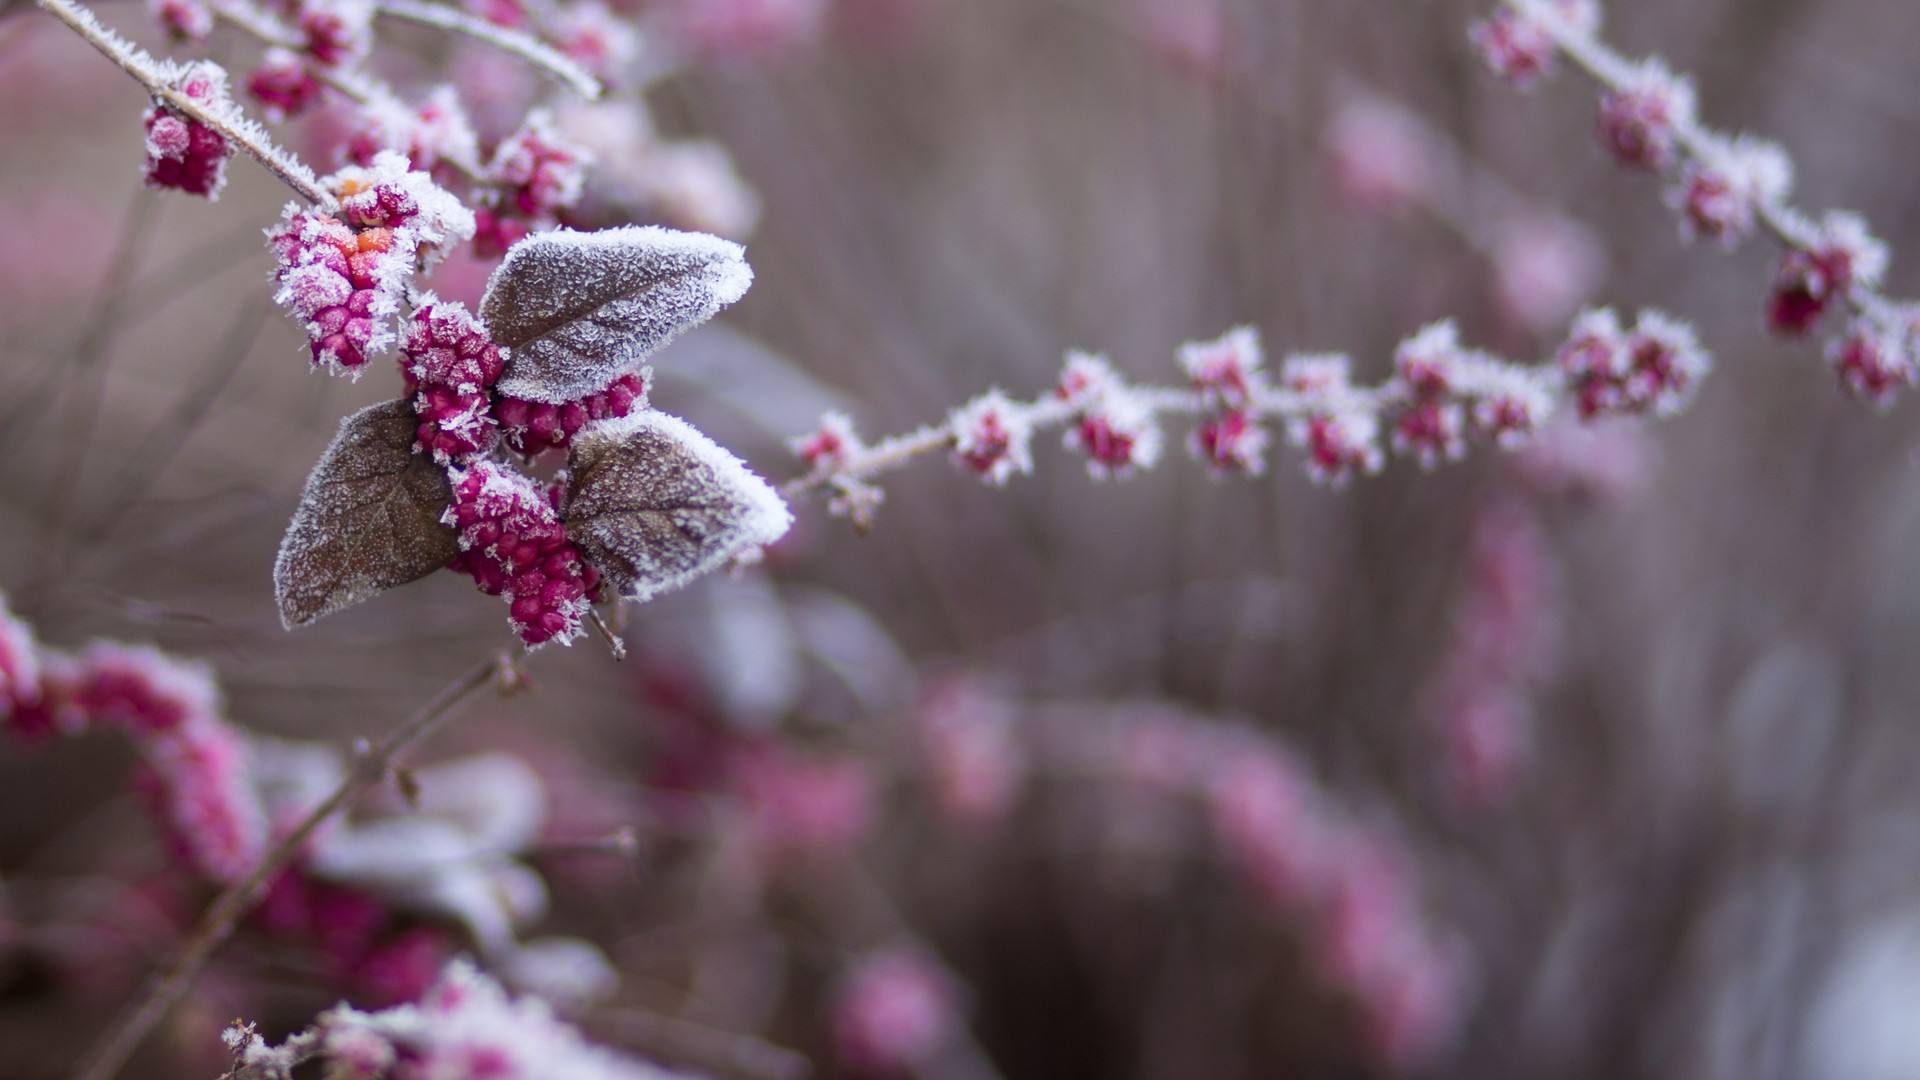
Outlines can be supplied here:
[[[146, 86], [146, 92], [154, 96], [157, 106], [171, 113], [171, 117], [154, 113], [148, 115], [150, 158], [173, 156], [177, 160], [192, 161], [194, 158], [217, 156], [215, 161], [207, 165], [213, 169], [213, 177], [209, 179], [211, 190], [217, 190], [223, 177], [215, 165], [223, 165], [225, 156], [230, 152], [228, 148], [238, 146], [240, 150], [246, 150], [250, 158], [265, 165], [269, 173], [280, 177], [286, 186], [300, 192], [300, 196], [307, 202], [323, 209], [330, 209], [334, 206], [332, 196], [326, 194], [321, 183], [313, 177], [313, 171], [286, 150], [275, 146], [267, 129], [242, 113], [227, 98], [225, 73], [217, 65], [196, 63], [182, 67], [171, 61], [154, 60], [140, 46], [104, 27], [92, 12], [73, 0], [38, 0], [38, 4], [46, 13], [54, 15], [65, 23], [67, 29], [81, 35], [86, 44], [94, 46], [102, 56], [117, 63], [121, 71], [132, 75], [136, 83]], [[179, 125], [177, 117], [186, 117], [188, 123]], [[175, 121], [179, 131], [175, 131], [175, 125], [167, 123], [169, 119]], [[196, 146], [192, 136], [200, 133], [194, 131], [194, 125], [217, 136], [221, 144], [209, 150]], [[211, 194], [211, 190], [200, 194]]]

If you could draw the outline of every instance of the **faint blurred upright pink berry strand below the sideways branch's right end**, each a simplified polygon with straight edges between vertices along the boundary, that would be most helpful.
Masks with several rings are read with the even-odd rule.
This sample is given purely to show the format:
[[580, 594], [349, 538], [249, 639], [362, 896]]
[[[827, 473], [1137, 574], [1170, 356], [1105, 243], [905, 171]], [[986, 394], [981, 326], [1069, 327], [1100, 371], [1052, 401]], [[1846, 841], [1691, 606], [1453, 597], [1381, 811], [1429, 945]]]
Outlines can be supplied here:
[[1500, 500], [1480, 513], [1467, 575], [1430, 713], [1453, 796], [1488, 805], [1519, 780], [1526, 700], [1553, 663], [1553, 553], [1524, 503]]

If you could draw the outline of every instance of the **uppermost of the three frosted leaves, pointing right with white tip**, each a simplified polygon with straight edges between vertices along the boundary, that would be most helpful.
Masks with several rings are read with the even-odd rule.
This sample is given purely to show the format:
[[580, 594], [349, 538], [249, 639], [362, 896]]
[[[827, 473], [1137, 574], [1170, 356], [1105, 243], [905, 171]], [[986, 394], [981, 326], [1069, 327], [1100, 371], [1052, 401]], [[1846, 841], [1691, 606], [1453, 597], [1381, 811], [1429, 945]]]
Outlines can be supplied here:
[[536, 233], [488, 279], [480, 317], [507, 346], [499, 392], [574, 402], [753, 284], [745, 250], [655, 225]]

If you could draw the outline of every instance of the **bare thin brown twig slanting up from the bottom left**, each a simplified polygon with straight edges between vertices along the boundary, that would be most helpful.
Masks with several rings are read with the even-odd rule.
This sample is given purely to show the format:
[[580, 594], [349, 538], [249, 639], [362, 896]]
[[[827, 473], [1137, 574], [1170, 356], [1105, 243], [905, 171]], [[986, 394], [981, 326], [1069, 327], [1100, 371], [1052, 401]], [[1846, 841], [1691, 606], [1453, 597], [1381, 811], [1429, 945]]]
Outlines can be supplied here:
[[457, 705], [495, 678], [503, 678], [509, 671], [511, 661], [507, 659], [490, 659], [474, 667], [447, 684], [397, 728], [369, 746], [355, 759], [353, 769], [348, 771], [340, 786], [334, 788], [334, 794], [313, 807], [292, 832], [267, 851], [246, 878], [228, 886], [227, 892], [213, 899], [173, 961], [146, 980], [140, 994], [127, 1003], [106, 1030], [104, 1040], [86, 1055], [86, 1061], [73, 1074], [75, 1080], [113, 1080], [127, 1065], [127, 1059], [132, 1057], [132, 1051], [140, 1047], [140, 1042], [146, 1040], [148, 1032], [167, 1017], [173, 1005], [194, 984], [194, 978], [207, 965], [213, 951], [232, 936], [240, 919], [259, 903], [267, 892], [267, 884], [300, 857], [300, 851], [315, 830], [380, 784], [394, 767], [396, 757], [432, 734]]

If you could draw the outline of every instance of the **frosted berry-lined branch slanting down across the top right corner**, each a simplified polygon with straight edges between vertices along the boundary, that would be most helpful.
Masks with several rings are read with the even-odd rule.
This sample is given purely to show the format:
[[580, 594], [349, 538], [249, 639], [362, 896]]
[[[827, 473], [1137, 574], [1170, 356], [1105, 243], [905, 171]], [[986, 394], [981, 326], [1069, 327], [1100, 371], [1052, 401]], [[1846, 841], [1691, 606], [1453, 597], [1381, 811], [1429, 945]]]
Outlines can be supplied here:
[[1473, 29], [1494, 71], [1528, 83], [1572, 56], [1601, 85], [1599, 135], [1622, 165], [1663, 177], [1686, 236], [1732, 248], [1764, 225], [1786, 248], [1766, 315], [1780, 334], [1812, 332], [1836, 307], [1853, 309], [1826, 356], [1843, 386], [1876, 404], [1920, 379], [1920, 309], [1880, 294], [1887, 250], [1853, 213], [1812, 219], [1786, 198], [1791, 158], [1753, 136], [1728, 136], [1697, 115], [1693, 85], [1659, 60], [1628, 61], [1599, 38], [1594, 0], [1507, 0]]

